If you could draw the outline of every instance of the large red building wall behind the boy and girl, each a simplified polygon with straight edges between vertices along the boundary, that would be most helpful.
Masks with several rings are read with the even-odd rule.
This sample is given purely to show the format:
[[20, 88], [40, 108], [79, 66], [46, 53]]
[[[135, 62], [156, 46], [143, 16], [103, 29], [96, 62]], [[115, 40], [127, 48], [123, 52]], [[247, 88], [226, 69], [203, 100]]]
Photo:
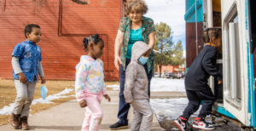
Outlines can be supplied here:
[[74, 80], [75, 65], [84, 54], [83, 37], [96, 33], [105, 42], [106, 79], [118, 79], [113, 49], [122, 0], [88, 1], [85, 5], [72, 0], [0, 0], [0, 78], [12, 78], [11, 54], [17, 43], [25, 41], [24, 27], [33, 23], [43, 31], [38, 45], [47, 79]]

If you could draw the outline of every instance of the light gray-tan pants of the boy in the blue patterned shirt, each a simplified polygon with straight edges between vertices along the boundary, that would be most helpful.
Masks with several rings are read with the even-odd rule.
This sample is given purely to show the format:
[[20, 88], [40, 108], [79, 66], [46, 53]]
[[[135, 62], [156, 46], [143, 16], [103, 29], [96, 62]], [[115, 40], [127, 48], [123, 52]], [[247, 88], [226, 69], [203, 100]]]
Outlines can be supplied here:
[[15, 108], [13, 113], [20, 114], [20, 117], [28, 117], [30, 105], [34, 99], [34, 93], [37, 82], [20, 83], [20, 80], [15, 80], [15, 88], [17, 97], [15, 100]]

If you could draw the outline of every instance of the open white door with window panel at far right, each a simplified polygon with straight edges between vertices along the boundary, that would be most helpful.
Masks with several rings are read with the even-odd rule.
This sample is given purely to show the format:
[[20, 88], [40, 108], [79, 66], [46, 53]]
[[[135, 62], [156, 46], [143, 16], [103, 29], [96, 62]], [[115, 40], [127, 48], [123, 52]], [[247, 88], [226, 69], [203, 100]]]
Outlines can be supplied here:
[[247, 43], [245, 1], [222, 0], [224, 108], [247, 122]]

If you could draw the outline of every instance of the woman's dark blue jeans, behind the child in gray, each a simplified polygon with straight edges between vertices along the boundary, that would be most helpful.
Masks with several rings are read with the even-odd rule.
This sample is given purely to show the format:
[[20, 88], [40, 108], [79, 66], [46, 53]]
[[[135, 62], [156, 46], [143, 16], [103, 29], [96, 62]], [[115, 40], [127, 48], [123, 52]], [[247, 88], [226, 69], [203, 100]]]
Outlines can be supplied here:
[[[130, 63], [130, 59], [126, 59], [125, 66]], [[147, 72], [148, 76], [148, 96], [150, 97], [150, 81], [152, 78], [152, 70], [148, 72], [147, 65], [144, 65], [145, 71]], [[124, 89], [125, 89], [125, 70], [122, 65], [120, 65], [119, 69], [119, 82], [120, 82], [120, 92], [119, 92], [119, 112], [118, 118], [119, 123], [128, 124], [128, 112], [130, 109], [130, 104], [125, 103], [125, 96], [124, 96]]]

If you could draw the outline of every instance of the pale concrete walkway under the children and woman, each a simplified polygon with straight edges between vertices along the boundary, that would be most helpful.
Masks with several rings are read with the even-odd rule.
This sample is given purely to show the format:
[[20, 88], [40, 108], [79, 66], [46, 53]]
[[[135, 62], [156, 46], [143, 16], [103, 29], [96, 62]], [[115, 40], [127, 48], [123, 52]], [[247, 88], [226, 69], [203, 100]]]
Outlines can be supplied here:
[[[104, 112], [101, 131], [109, 131], [109, 125], [117, 122], [117, 112], [119, 105], [119, 91], [108, 91], [112, 101], [102, 100], [102, 109]], [[175, 98], [183, 97], [183, 93], [152, 93], [153, 98]], [[47, 111], [41, 111], [29, 117], [28, 122], [31, 130], [36, 131], [79, 131], [84, 119], [84, 109], [80, 108], [75, 100], [67, 101], [61, 105], [50, 108]], [[132, 108], [129, 112], [129, 119], [132, 119]], [[131, 122], [131, 121], [130, 121]], [[130, 123], [129, 123], [130, 124]], [[12, 131], [13, 129], [9, 124], [0, 127], [0, 131]], [[121, 131], [128, 131], [123, 129]], [[161, 131], [159, 123], [154, 117], [153, 126], [151, 131]]]

